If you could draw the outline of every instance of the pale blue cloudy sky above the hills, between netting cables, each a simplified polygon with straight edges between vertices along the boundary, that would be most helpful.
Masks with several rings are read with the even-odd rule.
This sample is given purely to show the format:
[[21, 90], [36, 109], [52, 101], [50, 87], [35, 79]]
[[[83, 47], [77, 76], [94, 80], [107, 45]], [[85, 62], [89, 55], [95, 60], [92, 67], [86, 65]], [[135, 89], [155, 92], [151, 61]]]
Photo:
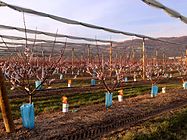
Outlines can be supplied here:
[[[57, 15], [98, 26], [143, 34], [151, 37], [178, 37], [187, 35], [187, 24], [170, 17], [164, 11], [148, 6], [141, 0], [2, 0], [6, 3]], [[164, 5], [187, 16], [187, 0], [158, 0]], [[7, 7], [0, 7], [0, 24], [24, 28], [23, 14]], [[124, 35], [68, 25], [49, 18], [25, 14], [26, 26], [80, 37], [123, 41]], [[0, 34], [24, 33], [0, 29]], [[30, 37], [33, 37], [30, 35]]]

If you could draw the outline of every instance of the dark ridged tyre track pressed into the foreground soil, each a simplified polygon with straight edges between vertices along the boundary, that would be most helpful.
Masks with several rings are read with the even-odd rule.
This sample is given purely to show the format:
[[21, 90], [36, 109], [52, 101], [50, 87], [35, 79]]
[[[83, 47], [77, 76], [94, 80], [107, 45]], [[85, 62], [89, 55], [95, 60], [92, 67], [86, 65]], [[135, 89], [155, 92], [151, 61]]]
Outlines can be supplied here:
[[[128, 129], [134, 124], [142, 123], [146, 120], [152, 119], [164, 112], [169, 112], [171, 110], [175, 110], [178, 108], [181, 108], [183, 106], [187, 105], [187, 101], [183, 101], [180, 103], [173, 103], [170, 106], [163, 106], [160, 107], [159, 109], [152, 110], [150, 112], [145, 112], [140, 115], [136, 116], [129, 116], [124, 118], [123, 116], [117, 117], [117, 118], [112, 118], [112, 120], [108, 120], [111, 123], [103, 122], [100, 125], [92, 125], [91, 128], [82, 128], [80, 131], [76, 133], [71, 133], [71, 134], [60, 134], [53, 136], [50, 139], [63, 139], [63, 140], [87, 140], [87, 139], [100, 139], [103, 136], [110, 135], [111, 132], [119, 132], [119, 129]], [[113, 120], [116, 121], [113, 121]], [[121, 130], [121, 131], [122, 131]]]

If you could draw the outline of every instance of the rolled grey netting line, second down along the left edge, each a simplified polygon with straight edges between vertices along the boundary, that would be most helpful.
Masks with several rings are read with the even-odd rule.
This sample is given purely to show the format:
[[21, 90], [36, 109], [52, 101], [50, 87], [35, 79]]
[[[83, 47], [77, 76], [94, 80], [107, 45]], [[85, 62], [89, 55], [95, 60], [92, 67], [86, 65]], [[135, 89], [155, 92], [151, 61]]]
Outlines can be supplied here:
[[[19, 28], [19, 27], [13, 27], [13, 26], [7, 26], [7, 25], [0, 25], [0, 28], [2, 29], [9, 29], [9, 30], [17, 30], [20, 32], [25, 32], [24, 28]], [[62, 34], [54, 34], [50, 32], [43, 32], [43, 31], [38, 31], [38, 30], [31, 30], [31, 29], [26, 29], [27, 33], [30, 34], [43, 34], [46, 36], [51, 36], [51, 37], [63, 37], [63, 38], [69, 38], [69, 39], [76, 39], [76, 40], [85, 40], [85, 41], [91, 41], [91, 42], [102, 42], [102, 43], [118, 43], [117, 41], [109, 41], [109, 40], [100, 40], [100, 39], [92, 39], [92, 38], [84, 38], [84, 37], [77, 37], [77, 36], [70, 36], [70, 35], [62, 35]]]

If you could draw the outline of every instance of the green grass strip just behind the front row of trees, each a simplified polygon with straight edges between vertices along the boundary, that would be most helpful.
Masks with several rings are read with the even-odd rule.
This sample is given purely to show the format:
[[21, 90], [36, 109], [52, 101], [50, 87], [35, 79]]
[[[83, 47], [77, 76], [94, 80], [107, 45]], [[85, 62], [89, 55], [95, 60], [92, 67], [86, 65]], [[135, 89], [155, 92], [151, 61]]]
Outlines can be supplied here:
[[[90, 79], [86, 80], [73, 80], [73, 85], [89, 85], [90, 84]], [[179, 87], [180, 84], [167, 84], [167, 85], [158, 85], [161, 89], [161, 87], [166, 86], [166, 88], [176, 88]], [[66, 83], [57, 83], [54, 84], [53, 86], [55, 87], [64, 87], [67, 86]], [[113, 92], [113, 99], [117, 100], [117, 91], [120, 88], [117, 88], [116, 91]], [[131, 84], [126, 84], [124, 89], [124, 98], [132, 97], [132, 96], [137, 96], [141, 95], [145, 92], [150, 92], [151, 90], [151, 85], [131, 85]], [[68, 97], [68, 103], [70, 104], [70, 110], [73, 108], [78, 108], [80, 106], [85, 106], [85, 105], [90, 105], [90, 104], [95, 104], [95, 103], [104, 103], [105, 101], [105, 89], [97, 89], [95, 91], [88, 91], [84, 93], [75, 93], [73, 95], [69, 95], [68, 93], [63, 93], [62, 95], [66, 95]], [[10, 93], [12, 94], [12, 93]], [[39, 94], [39, 93], [37, 93]], [[47, 94], [47, 93], [46, 93]], [[51, 98], [49, 97], [33, 97], [34, 101], [34, 106], [35, 106], [35, 114], [38, 115], [41, 112], [47, 112], [48, 111], [56, 111], [56, 110], [61, 110], [61, 96], [60, 95], [55, 95], [52, 96]], [[19, 98], [19, 99], [11, 99], [10, 100], [10, 106], [12, 109], [12, 114], [13, 118], [19, 118], [20, 117], [20, 111], [19, 108], [23, 103], [28, 102], [28, 98]], [[1, 115], [1, 113], [0, 113]], [[0, 116], [1, 118], [1, 116]]]

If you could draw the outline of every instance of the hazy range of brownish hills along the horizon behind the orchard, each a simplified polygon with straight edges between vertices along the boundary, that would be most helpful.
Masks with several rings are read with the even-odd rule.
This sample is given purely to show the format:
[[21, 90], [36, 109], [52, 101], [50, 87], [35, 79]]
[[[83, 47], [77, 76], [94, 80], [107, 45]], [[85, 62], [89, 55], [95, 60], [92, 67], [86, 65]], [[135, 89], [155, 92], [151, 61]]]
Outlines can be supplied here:
[[[162, 57], [163, 53], [167, 57], [176, 57], [176, 56], [185, 56], [185, 50], [187, 48], [187, 36], [182, 36], [182, 37], [168, 37], [164, 38], [161, 37], [159, 39], [162, 40], [167, 40], [170, 42], [175, 42], [175, 43], [181, 43], [184, 45], [174, 45], [174, 44], [167, 44], [159, 41], [154, 41], [154, 40], [147, 40], [145, 41], [145, 52], [148, 58], [153, 58], [156, 56]], [[53, 43], [42, 43], [35, 45], [33, 48], [33, 45], [30, 46], [32, 50], [37, 53], [42, 55], [42, 50], [44, 54], [50, 54], [52, 52], [52, 48], [54, 46], [54, 53], [60, 53], [64, 45], [61, 44], [53, 44]], [[20, 47], [17, 48], [17, 50], [21, 50]], [[88, 56], [88, 45], [67, 45], [65, 49], [65, 56], [67, 58], [71, 58], [72, 55], [72, 48], [74, 48], [74, 55], [76, 58], [80, 58], [83, 56], [86, 58]], [[109, 48], [110, 46], [99, 46], [98, 48], [95, 45], [90, 46], [90, 52], [92, 57], [96, 57], [99, 51], [99, 54], [103, 53], [104, 56], [108, 57], [109, 55]], [[47, 53], [48, 52], [48, 53]], [[141, 39], [134, 39], [134, 40], [127, 40], [124, 42], [120, 42], [118, 44], [113, 45], [113, 57], [119, 57], [120, 55], [126, 55], [126, 56], [131, 56], [134, 54], [135, 58], [140, 58], [142, 56], [142, 40]]]

